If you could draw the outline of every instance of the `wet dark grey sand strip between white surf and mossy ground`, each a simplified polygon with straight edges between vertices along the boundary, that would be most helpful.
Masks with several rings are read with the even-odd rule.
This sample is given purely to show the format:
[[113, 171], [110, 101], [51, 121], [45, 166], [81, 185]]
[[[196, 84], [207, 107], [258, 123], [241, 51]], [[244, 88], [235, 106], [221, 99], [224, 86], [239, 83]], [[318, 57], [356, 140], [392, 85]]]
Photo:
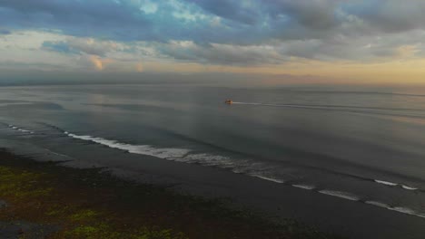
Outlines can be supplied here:
[[[114, 149], [104, 148], [104, 151]], [[295, 218], [321, 231], [348, 235], [354, 239], [423, 239], [425, 218], [390, 211], [362, 202], [321, 195], [309, 190], [235, 174], [220, 168], [188, 165], [122, 153], [125, 163], [102, 158], [101, 163], [120, 168], [118, 175], [196, 195], [229, 197], [237, 205], [249, 206], [267, 215]], [[121, 157], [120, 156], [120, 157]], [[84, 161], [84, 165], [87, 165]], [[68, 163], [78, 166], [77, 161]], [[131, 167], [129, 167], [131, 166]], [[138, 169], [143, 168], [143, 169]]]

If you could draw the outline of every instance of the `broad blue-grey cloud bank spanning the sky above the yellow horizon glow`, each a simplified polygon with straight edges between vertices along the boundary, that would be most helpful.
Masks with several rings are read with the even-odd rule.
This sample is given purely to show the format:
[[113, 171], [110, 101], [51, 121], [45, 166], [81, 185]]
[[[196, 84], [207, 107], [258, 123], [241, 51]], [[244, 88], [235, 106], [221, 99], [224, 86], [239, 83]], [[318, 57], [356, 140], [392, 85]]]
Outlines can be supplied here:
[[143, 41], [178, 61], [236, 65], [370, 60], [406, 44], [420, 50], [423, 12], [425, 2], [400, 0], [0, 0], [5, 29], [68, 35], [44, 50], [109, 57]]

